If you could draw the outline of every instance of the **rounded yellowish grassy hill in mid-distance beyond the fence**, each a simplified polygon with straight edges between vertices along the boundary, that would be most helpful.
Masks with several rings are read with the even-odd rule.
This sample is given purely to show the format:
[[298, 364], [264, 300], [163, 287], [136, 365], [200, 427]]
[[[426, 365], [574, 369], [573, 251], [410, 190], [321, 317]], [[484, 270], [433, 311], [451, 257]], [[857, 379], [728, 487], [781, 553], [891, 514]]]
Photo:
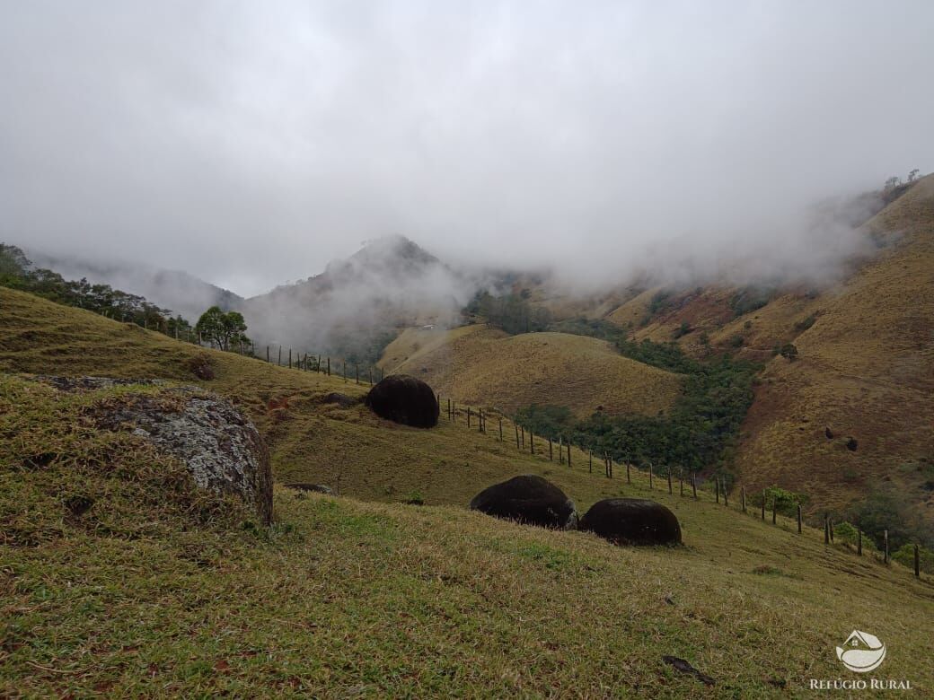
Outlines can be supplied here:
[[507, 412], [558, 403], [582, 417], [598, 406], [610, 413], [665, 411], [681, 384], [677, 375], [620, 357], [609, 343], [594, 338], [507, 336], [481, 326], [407, 330], [389, 345], [383, 366], [423, 378], [459, 402]]

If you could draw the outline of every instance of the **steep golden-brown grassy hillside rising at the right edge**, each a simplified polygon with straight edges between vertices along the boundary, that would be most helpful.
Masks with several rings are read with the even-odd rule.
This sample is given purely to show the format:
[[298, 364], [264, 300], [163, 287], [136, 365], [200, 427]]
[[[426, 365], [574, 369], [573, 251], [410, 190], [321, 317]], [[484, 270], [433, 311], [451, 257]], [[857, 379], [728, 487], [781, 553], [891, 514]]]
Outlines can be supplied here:
[[934, 178], [869, 226], [902, 237], [810, 303], [817, 320], [794, 341], [800, 359], [774, 358], [764, 372], [739, 467], [745, 483], [780, 483], [827, 506], [889, 483], [932, 518]]

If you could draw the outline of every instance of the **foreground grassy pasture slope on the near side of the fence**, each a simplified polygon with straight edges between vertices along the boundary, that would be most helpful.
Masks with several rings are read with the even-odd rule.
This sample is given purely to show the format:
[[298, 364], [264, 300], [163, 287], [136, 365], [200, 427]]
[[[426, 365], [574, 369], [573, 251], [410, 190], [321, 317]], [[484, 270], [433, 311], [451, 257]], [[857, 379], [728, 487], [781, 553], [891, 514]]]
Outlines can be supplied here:
[[[7, 371], [191, 382], [184, 361], [196, 352], [0, 290]], [[0, 693], [683, 697], [778, 695], [787, 682], [803, 694], [804, 679], [841, 675], [833, 648], [854, 627], [889, 644], [885, 677], [934, 688], [931, 669], [915, 663], [934, 653], [914, 623], [934, 613], [927, 578], [825, 547], [811, 530], [799, 537], [781, 519], [762, 525], [735, 503], [669, 497], [658, 482], [653, 497], [684, 525], [682, 549], [620, 549], [497, 522], [458, 506], [521, 472], [548, 474], [582, 508], [645, 495], [646, 479], [587, 474], [577, 453], [573, 469], [519, 455], [462, 422], [420, 431], [359, 407], [325, 408], [321, 393], [363, 388], [209, 354], [218, 379], [206, 384], [257, 421], [280, 480], [340, 476], [343, 494], [382, 500], [414, 486], [430, 505], [279, 488], [272, 530], [235, 528], [246, 514], [205, 503], [175, 477], [173, 498], [160, 502], [177, 465], [81, 427], [80, 408], [110, 392], [56, 400], [3, 378], [0, 523], [16, 537], [0, 545]], [[17, 467], [48, 453], [59, 456], [47, 467]], [[97, 502], [69, 518], [70, 494]], [[718, 685], [674, 675], [662, 654]]]

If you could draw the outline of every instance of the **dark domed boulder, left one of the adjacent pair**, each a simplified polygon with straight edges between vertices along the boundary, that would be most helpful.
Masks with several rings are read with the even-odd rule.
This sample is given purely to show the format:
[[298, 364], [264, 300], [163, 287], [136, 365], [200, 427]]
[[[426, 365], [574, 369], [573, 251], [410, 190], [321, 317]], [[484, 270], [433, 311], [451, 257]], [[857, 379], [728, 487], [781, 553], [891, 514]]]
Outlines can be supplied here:
[[577, 526], [574, 503], [554, 483], [525, 474], [494, 483], [474, 496], [471, 510], [519, 523], [572, 530]]

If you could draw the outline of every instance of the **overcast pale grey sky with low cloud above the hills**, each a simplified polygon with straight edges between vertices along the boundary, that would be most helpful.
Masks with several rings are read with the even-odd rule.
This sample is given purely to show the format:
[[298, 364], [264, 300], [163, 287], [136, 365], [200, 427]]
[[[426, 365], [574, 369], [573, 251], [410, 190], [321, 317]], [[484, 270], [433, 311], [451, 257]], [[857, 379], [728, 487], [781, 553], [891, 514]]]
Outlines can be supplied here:
[[251, 295], [403, 234], [587, 282], [832, 273], [934, 170], [934, 3], [0, 6], [0, 241]]

